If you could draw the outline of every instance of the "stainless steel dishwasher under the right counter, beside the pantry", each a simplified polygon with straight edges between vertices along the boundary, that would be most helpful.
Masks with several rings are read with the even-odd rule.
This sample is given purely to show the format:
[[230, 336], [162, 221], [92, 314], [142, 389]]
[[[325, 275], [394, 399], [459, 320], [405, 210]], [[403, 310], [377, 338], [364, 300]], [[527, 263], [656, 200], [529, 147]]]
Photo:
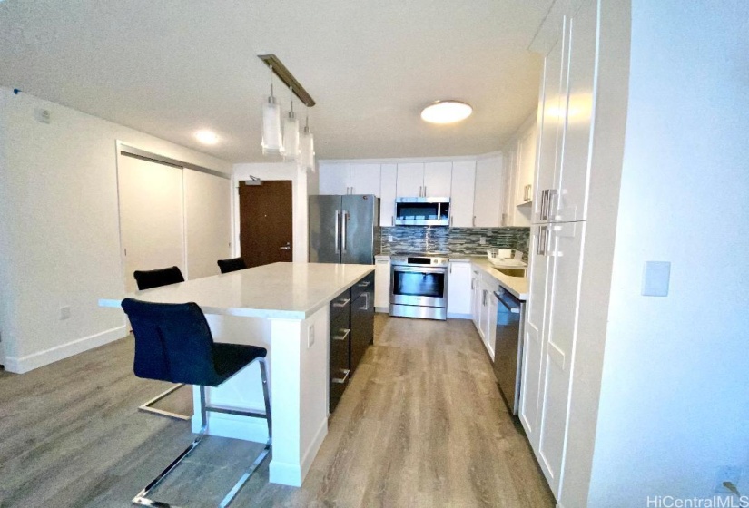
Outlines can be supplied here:
[[494, 348], [494, 375], [508, 409], [517, 415], [520, 403], [520, 367], [523, 355], [525, 302], [505, 288], [494, 292], [497, 305], [497, 339]]

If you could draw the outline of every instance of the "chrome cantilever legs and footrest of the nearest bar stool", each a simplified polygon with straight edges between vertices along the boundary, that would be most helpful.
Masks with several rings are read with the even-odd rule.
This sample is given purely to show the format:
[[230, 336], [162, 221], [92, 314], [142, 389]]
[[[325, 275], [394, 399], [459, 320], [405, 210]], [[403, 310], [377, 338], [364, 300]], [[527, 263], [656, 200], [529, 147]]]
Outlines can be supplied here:
[[[141, 506], [149, 506], [151, 508], [177, 508], [173, 504], [169, 503], [163, 503], [160, 501], [155, 501], [153, 499], [149, 499], [147, 496], [148, 494], [153, 491], [159, 484], [162, 483], [163, 479], [166, 478], [166, 476], [174, 470], [174, 468], [179, 465], [182, 460], [187, 457], [189, 454], [192, 453], [192, 450], [194, 450], [198, 445], [201, 444], [202, 438], [205, 436], [205, 431], [208, 428], [208, 412], [212, 413], [228, 413], [232, 415], [242, 415], [242, 416], [254, 416], [258, 418], [264, 418], [266, 420], [266, 423], [268, 425], [268, 441], [265, 443], [265, 446], [263, 447], [263, 450], [261, 454], [257, 456], [257, 458], [254, 460], [254, 462], [251, 464], [251, 466], [247, 469], [247, 471], [241, 475], [241, 478], [239, 481], [234, 484], [232, 487], [232, 490], [229, 491], [229, 493], [224, 496], [222, 502], [219, 504], [221, 508], [225, 508], [229, 505], [229, 503], [232, 503], [234, 497], [239, 493], [242, 486], [244, 486], [245, 483], [247, 483], [247, 480], [250, 479], [251, 475], [257, 470], [258, 467], [263, 463], [263, 461], [268, 457], [268, 454], [271, 453], [271, 396], [268, 390], [268, 373], [265, 368], [265, 358], [258, 358], [256, 361], [260, 362], [260, 373], [262, 378], [262, 395], [265, 402], [265, 413], [257, 413], [254, 411], [238, 411], [233, 409], [223, 409], [220, 407], [212, 407], [210, 405], [205, 404], [205, 386], [200, 386], [200, 399], [201, 399], [201, 429], [198, 432], [198, 435], [195, 437], [194, 441], [192, 441], [192, 445], [185, 448], [185, 450], [180, 454], [176, 459], [172, 461], [172, 464], [169, 464], [166, 469], [162, 471], [161, 474], [156, 476], [156, 478], [140, 492], [138, 495], [136, 495], [133, 498], [134, 504], [139, 504]], [[179, 386], [177, 386], [179, 387]], [[176, 389], [172, 388], [172, 390]]]

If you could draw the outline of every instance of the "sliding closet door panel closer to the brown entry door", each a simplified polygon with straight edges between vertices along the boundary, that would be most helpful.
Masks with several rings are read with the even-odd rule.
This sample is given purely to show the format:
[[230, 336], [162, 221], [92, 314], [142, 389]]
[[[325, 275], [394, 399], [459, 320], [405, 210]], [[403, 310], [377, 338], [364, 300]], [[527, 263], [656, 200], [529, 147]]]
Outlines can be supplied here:
[[184, 170], [187, 274], [201, 278], [220, 273], [218, 259], [231, 258], [232, 181]]

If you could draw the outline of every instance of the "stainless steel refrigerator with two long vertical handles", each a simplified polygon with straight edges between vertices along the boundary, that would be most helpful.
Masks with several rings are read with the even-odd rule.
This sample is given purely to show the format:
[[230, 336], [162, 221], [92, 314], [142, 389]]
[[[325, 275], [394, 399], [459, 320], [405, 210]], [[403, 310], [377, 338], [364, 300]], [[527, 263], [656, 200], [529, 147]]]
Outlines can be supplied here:
[[310, 263], [374, 264], [379, 198], [310, 196]]

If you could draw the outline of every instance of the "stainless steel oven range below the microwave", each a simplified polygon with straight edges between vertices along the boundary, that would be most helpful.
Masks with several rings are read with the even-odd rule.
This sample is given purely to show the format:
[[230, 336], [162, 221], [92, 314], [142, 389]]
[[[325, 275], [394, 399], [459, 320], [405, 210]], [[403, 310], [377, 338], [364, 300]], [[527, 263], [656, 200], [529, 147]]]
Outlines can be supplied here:
[[390, 258], [390, 316], [448, 318], [448, 259]]

